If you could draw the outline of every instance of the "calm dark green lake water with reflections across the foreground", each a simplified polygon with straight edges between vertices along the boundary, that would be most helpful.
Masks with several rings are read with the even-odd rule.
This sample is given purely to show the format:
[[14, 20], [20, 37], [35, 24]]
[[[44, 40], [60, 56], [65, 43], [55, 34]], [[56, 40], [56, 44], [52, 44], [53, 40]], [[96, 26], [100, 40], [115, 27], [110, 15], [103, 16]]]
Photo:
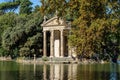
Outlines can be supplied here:
[[120, 65], [0, 62], [0, 80], [120, 80]]

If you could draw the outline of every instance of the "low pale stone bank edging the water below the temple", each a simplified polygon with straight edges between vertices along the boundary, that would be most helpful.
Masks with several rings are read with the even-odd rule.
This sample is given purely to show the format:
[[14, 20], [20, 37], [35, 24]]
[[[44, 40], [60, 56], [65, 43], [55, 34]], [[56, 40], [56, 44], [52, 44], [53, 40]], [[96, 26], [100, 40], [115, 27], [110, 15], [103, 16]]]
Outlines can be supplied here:
[[43, 61], [43, 60], [34, 60], [34, 59], [33, 60], [20, 59], [20, 60], [16, 60], [16, 62], [23, 63], [23, 64], [95, 64], [95, 63], [104, 64], [104, 63], [109, 63], [106, 61], [94, 61], [94, 60]]

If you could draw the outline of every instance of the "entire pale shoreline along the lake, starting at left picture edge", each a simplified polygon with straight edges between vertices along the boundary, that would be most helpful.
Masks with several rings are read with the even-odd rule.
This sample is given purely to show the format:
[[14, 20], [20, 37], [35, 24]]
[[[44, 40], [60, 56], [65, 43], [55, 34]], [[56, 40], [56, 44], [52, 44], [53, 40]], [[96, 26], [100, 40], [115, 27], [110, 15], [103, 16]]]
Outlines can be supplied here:
[[[65, 59], [65, 60], [59, 60], [59, 59]], [[17, 59], [11, 59], [8, 57], [0, 57], [0, 61], [15, 61], [17, 63], [21, 63], [21, 64], [95, 64], [95, 63], [100, 63], [100, 64], [104, 64], [104, 63], [109, 63], [107, 61], [95, 61], [95, 60], [91, 60], [91, 59], [85, 59], [80, 61], [79, 59], [76, 60], [67, 60], [68, 58], [58, 58], [58, 60], [52, 60], [51, 58], [49, 58], [49, 60], [47, 59], [43, 59], [43, 58], [36, 58], [36, 59], [24, 59], [24, 58], [17, 58]]]

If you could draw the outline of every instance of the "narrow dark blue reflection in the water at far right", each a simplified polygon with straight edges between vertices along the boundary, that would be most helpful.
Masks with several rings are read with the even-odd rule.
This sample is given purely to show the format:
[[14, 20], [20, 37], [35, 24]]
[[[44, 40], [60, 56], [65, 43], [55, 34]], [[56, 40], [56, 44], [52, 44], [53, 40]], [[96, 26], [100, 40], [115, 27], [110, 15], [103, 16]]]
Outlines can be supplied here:
[[117, 80], [117, 64], [112, 63], [110, 65], [110, 80]]

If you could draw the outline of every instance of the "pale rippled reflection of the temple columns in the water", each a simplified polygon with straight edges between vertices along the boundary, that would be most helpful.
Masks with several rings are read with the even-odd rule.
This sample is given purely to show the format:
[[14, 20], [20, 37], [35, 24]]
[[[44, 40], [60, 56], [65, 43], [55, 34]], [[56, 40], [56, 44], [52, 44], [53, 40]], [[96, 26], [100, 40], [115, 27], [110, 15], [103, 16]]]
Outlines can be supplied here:
[[[47, 80], [47, 65], [43, 66], [43, 80]], [[77, 76], [77, 64], [50, 64], [49, 80], [75, 80]]]

